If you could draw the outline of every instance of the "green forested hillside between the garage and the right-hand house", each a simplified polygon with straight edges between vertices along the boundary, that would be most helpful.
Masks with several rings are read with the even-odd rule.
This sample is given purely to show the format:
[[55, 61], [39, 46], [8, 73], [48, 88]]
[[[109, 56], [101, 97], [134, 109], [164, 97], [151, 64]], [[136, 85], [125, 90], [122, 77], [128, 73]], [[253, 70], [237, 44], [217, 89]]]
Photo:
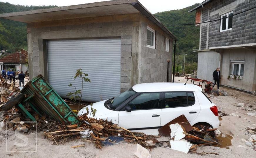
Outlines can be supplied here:
[[[163, 24], [188, 24], [195, 23], [195, 11], [189, 13], [188, 11], [199, 4], [194, 4], [179, 10], [164, 11], [156, 13], [155, 17], [158, 18]], [[195, 25], [178, 25], [166, 26], [178, 38], [176, 48], [176, 68], [175, 72], [183, 72], [183, 58], [185, 56], [185, 72], [197, 70], [198, 53], [193, 52], [192, 49], [199, 48], [199, 32], [200, 27]], [[177, 67], [179, 70], [177, 70]]]

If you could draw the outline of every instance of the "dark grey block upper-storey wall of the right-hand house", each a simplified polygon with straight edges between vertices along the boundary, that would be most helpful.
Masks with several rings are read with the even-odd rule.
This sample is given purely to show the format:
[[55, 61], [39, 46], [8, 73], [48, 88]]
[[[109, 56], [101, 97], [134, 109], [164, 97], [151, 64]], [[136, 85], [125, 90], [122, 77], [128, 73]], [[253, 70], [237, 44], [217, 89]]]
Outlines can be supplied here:
[[[202, 9], [202, 22], [220, 19], [221, 15], [230, 11], [234, 11], [234, 14], [240, 13], [254, 6], [255, 0], [215, 0]], [[205, 29], [205, 24], [201, 26], [201, 50], [208, 49], [205, 47], [207, 32], [209, 37], [206, 45], [209, 48], [256, 43], [256, 9], [233, 16], [232, 30], [220, 32], [220, 20], [208, 25], [208, 29]]]

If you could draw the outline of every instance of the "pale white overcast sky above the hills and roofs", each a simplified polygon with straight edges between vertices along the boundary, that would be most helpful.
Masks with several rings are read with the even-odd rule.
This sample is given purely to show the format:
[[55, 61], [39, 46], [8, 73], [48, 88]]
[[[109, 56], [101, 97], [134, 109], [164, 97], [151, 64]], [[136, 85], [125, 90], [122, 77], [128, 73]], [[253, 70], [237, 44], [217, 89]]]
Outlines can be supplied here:
[[[76, 4], [85, 4], [100, 2], [106, 0], [0, 0], [11, 4], [19, 4], [24, 6], [70, 6]], [[201, 3], [204, 0], [139, 0], [151, 13], [162, 11], [170, 11], [175, 9], [182, 9], [191, 6], [195, 3]]]

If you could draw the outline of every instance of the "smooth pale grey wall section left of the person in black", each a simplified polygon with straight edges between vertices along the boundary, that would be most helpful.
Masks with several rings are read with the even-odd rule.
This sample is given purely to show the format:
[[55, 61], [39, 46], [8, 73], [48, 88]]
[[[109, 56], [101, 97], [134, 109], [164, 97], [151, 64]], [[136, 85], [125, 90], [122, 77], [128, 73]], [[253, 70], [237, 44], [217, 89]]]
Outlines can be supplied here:
[[[217, 66], [220, 66], [220, 53], [215, 51], [200, 51], [198, 52], [198, 74], [197, 78], [214, 82], [213, 71]], [[222, 70], [220, 69], [222, 73]]]

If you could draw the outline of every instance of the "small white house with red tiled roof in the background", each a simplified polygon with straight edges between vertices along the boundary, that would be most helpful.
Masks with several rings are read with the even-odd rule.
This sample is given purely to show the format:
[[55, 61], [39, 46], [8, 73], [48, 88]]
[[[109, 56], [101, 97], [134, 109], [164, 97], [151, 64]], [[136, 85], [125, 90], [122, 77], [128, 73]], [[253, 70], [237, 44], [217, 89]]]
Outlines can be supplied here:
[[14, 53], [8, 54], [0, 59], [1, 71], [13, 69], [15, 71], [28, 71], [28, 51], [21, 49]]

